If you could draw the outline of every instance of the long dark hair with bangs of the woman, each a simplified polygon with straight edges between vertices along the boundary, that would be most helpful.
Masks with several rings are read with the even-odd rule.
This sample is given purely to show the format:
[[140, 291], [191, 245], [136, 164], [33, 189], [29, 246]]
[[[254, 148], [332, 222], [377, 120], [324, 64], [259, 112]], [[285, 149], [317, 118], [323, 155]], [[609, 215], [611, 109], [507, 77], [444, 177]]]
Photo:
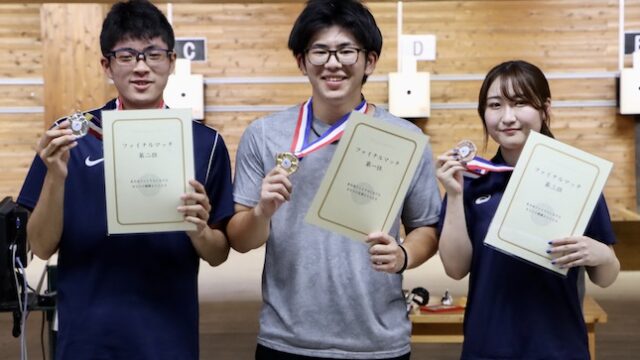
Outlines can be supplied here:
[[[478, 95], [478, 114], [484, 127], [485, 146], [488, 138], [487, 123], [484, 118], [487, 110], [487, 96], [494, 81], [500, 79], [500, 93], [509, 101], [524, 101], [540, 112], [542, 126], [540, 133], [553, 137], [549, 125], [551, 114], [547, 102], [551, 100], [549, 82], [537, 66], [523, 60], [505, 61], [489, 70]], [[513, 94], [509, 89], [513, 88]]]

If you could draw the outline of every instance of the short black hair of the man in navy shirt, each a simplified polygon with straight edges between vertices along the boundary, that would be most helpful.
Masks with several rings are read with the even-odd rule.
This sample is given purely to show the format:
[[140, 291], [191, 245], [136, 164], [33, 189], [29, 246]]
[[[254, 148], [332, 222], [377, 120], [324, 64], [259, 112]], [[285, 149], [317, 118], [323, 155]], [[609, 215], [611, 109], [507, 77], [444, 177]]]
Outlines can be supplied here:
[[121, 40], [151, 40], [156, 37], [173, 50], [176, 39], [164, 14], [147, 0], [120, 1], [111, 7], [102, 23], [100, 50], [106, 55]]

